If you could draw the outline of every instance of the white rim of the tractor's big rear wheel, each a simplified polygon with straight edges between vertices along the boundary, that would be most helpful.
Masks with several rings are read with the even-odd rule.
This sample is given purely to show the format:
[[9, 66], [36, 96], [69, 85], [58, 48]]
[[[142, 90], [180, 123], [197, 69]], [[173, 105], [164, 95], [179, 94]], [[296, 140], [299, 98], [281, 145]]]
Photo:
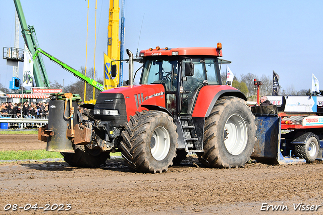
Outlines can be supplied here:
[[239, 155], [246, 147], [248, 141], [247, 124], [243, 117], [234, 114], [224, 127], [224, 144], [232, 155]]

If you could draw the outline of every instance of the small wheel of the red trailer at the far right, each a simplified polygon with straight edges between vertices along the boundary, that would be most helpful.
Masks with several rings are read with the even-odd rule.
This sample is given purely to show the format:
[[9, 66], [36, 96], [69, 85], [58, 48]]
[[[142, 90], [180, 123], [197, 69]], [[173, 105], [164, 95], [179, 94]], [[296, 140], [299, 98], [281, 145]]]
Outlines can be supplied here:
[[314, 162], [319, 150], [318, 141], [314, 136], [307, 138], [305, 145], [295, 145], [295, 155], [304, 158], [307, 163]]

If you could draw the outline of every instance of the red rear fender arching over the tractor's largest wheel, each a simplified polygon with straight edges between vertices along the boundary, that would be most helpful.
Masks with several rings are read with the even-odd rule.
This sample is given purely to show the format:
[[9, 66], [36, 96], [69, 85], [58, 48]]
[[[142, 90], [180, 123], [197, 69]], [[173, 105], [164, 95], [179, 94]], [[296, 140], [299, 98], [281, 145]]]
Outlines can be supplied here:
[[247, 97], [238, 89], [227, 85], [206, 85], [199, 91], [192, 117], [208, 117], [216, 101], [223, 96]]

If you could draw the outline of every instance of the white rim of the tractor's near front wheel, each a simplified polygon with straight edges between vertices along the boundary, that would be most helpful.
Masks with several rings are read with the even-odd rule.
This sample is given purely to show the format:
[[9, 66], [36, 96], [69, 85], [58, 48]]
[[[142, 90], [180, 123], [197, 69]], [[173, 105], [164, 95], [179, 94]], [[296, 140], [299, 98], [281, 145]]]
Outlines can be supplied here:
[[163, 160], [171, 147], [170, 134], [163, 126], [158, 126], [151, 135], [150, 151], [156, 160]]

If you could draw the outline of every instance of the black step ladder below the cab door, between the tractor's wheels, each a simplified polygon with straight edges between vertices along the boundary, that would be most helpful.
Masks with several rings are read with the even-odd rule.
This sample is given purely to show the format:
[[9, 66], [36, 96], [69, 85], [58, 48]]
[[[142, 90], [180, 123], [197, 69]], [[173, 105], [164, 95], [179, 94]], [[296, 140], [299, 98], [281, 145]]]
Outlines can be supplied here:
[[180, 117], [184, 139], [190, 151], [200, 152], [200, 144], [195, 131], [195, 126], [192, 117]]

